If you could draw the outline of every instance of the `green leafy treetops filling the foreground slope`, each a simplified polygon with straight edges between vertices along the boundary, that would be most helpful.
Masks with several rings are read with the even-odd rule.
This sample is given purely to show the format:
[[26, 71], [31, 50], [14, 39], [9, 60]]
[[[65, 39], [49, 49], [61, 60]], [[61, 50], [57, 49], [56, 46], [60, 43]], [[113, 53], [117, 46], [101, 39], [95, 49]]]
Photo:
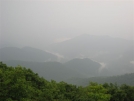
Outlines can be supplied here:
[[58, 83], [39, 77], [31, 69], [0, 62], [0, 101], [134, 101], [134, 86]]

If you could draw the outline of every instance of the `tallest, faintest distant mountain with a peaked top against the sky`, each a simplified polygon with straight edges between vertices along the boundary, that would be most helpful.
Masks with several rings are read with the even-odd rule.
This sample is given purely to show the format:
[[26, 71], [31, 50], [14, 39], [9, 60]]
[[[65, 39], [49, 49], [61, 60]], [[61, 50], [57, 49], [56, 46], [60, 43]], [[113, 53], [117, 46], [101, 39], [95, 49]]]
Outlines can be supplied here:
[[133, 47], [134, 43], [131, 40], [83, 34], [67, 41], [52, 44], [48, 46], [48, 50], [69, 59], [88, 57], [99, 62], [110, 62], [119, 58], [124, 52], [133, 50]]

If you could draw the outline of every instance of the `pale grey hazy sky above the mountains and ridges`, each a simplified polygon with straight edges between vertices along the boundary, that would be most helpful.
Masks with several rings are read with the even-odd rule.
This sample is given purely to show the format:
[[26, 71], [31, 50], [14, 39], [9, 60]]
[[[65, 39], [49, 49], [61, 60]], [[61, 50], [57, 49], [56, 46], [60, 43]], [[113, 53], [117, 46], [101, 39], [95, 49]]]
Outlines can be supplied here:
[[3, 45], [41, 47], [80, 34], [134, 39], [133, 0], [0, 0], [0, 4]]

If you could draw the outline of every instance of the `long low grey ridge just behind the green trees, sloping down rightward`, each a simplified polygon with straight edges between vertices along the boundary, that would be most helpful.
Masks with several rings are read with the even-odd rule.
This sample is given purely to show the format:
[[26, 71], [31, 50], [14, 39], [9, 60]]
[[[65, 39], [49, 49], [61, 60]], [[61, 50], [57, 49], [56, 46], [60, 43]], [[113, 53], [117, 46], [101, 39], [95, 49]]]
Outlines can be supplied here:
[[47, 80], [68, 81], [68, 79], [72, 78], [85, 78], [84, 75], [70, 68], [66, 68], [59, 62], [26, 62], [14, 60], [3, 62], [8, 66], [21, 65], [22, 67], [30, 68]]

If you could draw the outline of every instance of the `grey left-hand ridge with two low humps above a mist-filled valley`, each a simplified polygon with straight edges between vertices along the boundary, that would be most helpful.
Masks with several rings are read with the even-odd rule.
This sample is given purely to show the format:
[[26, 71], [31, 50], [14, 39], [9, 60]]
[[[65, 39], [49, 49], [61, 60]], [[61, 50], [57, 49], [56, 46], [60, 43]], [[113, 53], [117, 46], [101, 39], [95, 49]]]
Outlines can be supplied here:
[[22, 60], [22, 61], [56, 61], [57, 56], [43, 50], [32, 47], [16, 48], [6, 47], [0, 49], [0, 61]]

